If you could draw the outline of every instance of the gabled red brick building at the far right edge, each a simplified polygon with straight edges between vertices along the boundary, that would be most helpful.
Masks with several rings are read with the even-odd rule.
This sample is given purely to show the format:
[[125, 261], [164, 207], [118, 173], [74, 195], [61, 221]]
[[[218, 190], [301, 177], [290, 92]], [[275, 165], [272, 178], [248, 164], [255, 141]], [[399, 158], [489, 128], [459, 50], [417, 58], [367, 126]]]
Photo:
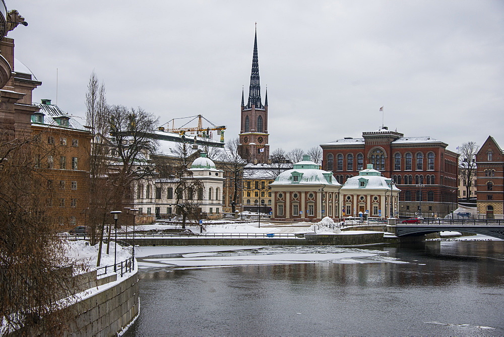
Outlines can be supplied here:
[[487, 219], [504, 218], [504, 153], [493, 137], [476, 154], [476, 203], [478, 214]]

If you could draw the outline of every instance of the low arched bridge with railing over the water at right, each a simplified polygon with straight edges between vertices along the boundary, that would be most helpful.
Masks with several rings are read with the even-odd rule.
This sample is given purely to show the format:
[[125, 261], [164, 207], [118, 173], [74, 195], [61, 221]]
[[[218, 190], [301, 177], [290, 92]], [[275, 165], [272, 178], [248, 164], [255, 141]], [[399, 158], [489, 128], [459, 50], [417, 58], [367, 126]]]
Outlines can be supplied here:
[[396, 236], [424, 235], [443, 231], [481, 234], [504, 240], [504, 221], [424, 219], [422, 224], [397, 224], [395, 226]]

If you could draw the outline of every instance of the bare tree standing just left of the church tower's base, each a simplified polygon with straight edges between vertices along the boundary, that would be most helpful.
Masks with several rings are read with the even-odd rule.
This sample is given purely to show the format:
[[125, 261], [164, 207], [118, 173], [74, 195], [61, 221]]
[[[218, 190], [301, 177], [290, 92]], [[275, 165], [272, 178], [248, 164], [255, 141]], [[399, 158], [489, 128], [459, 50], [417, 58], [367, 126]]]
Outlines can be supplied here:
[[218, 158], [219, 161], [223, 162], [225, 170], [231, 172], [231, 179], [229, 181], [231, 186], [228, 187], [233, 188], [233, 201], [231, 202], [231, 210], [233, 213], [236, 211], [238, 194], [242, 186], [243, 169], [246, 165], [246, 162], [238, 154], [239, 144], [239, 138], [235, 138], [226, 143], [225, 150], [221, 151], [221, 155]]

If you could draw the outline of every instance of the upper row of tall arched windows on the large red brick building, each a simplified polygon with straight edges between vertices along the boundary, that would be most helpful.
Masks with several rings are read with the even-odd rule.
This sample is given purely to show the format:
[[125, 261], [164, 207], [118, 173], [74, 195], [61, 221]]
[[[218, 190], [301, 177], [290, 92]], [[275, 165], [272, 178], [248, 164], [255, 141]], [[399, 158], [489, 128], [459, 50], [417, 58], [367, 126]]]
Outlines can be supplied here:
[[[427, 170], [434, 170], [434, 153], [427, 153]], [[402, 163], [403, 156], [397, 152], [394, 155], [394, 170], [401, 171], [403, 167]], [[415, 170], [422, 171], [424, 169], [424, 155], [418, 152], [415, 156]], [[336, 171], [343, 171], [344, 167], [344, 156], [340, 153], [336, 155]], [[369, 154], [369, 162], [373, 165], [375, 170], [384, 171], [385, 170], [385, 153], [381, 149], [375, 149]], [[357, 154], [357, 171], [364, 169], [364, 155], [362, 153]], [[334, 156], [332, 153], [327, 155], [326, 158], [326, 170], [334, 170]], [[354, 170], [354, 156], [349, 153], [346, 156], [346, 171]], [[408, 152], [404, 155], [404, 170], [413, 170], [413, 155]]]

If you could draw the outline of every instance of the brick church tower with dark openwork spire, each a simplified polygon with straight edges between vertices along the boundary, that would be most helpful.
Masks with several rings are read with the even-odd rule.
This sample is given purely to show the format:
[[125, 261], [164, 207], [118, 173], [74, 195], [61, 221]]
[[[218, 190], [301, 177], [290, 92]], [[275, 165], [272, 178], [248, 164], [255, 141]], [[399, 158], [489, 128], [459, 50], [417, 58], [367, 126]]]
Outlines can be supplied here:
[[252, 72], [248, 101], [245, 105], [244, 93], [241, 92], [241, 126], [238, 153], [248, 163], [267, 163], [270, 157], [268, 144], [268, 90], [264, 105], [261, 100], [261, 85], [259, 84], [259, 59], [257, 54], [257, 30], [254, 38], [254, 54], [252, 56]]

